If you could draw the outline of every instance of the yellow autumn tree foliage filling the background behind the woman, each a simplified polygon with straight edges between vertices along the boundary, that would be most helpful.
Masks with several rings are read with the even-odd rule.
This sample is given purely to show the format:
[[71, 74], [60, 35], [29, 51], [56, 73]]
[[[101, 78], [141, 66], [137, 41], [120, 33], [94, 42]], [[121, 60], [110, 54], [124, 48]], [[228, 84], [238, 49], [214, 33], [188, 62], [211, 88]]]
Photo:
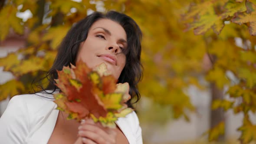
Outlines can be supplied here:
[[[233, 105], [233, 101], [225, 99], [214, 101], [212, 108], [233, 109], [244, 114], [256, 111], [256, 40], [248, 33], [249, 26], [250, 33], [255, 35], [256, 0], [104, 0], [103, 9], [90, 0], [47, 2], [50, 2], [50, 10], [45, 13], [45, 18], [54, 18], [60, 13], [63, 16], [61, 23], [34, 27], [39, 20], [36, 0], [14, 0], [13, 4], [7, 3], [0, 10], [0, 40], [6, 38], [9, 28], [23, 34], [23, 27], [27, 26], [28, 43], [31, 44], [27, 49], [0, 59], [0, 65], [5, 71], [13, 72], [16, 79], [1, 85], [1, 89], [9, 91], [0, 92], [0, 100], [14, 94], [10, 93], [10, 85], [17, 85], [12, 92], [25, 90], [28, 84], [22, 81], [23, 77], [31, 76], [28, 81], [32, 81], [34, 77], [42, 76], [38, 71], [51, 67], [62, 38], [73, 23], [87, 15], [87, 10], [114, 9], [131, 16], [143, 32], [141, 95], [169, 106], [174, 118], [184, 116], [187, 119], [185, 111], [194, 111], [194, 106], [186, 88], [190, 85], [207, 87], [198, 81], [203, 76], [219, 88], [229, 86], [227, 94], [235, 100], [243, 99], [240, 105]], [[30, 10], [33, 13], [33, 17], [24, 23], [16, 17], [16, 7], [20, 4], [23, 4], [21, 12]], [[71, 8], [76, 12], [71, 13]], [[189, 29], [194, 29], [194, 33]], [[236, 46], [235, 38], [241, 38], [243, 48]], [[40, 52], [43, 56], [35, 56]], [[24, 56], [24, 59], [17, 59], [17, 55]], [[208, 55], [213, 63], [205, 59]], [[210, 68], [205, 68], [202, 62], [208, 63]], [[233, 82], [227, 72], [232, 73], [237, 81]], [[223, 128], [221, 123], [210, 131], [209, 140], [223, 134]], [[256, 139], [250, 135], [254, 130], [249, 129], [246, 121], [239, 131], [242, 131], [241, 141]]]

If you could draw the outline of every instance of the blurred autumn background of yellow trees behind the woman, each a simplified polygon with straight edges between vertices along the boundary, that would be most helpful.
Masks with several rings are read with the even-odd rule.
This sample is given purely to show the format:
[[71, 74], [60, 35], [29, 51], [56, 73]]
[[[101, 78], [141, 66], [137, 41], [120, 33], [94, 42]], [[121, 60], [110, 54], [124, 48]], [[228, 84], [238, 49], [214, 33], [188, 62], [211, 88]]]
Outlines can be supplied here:
[[108, 10], [143, 33], [145, 144], [255, 143], [255, 0], [1, 0], [0, 115], [33, 91], [72, 24]]

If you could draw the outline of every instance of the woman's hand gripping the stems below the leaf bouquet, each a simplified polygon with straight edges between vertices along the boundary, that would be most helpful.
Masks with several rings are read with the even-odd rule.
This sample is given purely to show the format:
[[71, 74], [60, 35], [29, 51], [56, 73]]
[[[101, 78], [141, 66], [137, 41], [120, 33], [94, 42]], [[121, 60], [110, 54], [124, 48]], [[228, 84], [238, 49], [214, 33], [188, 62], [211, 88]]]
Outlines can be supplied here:
[[[112, 128], [104, 128], [92, 119], [86, 119], [79, 126], [79, 137], [84, 144], [116, 144], [117, 132]], [[78, 140], [79, 141], [79, 140]]]

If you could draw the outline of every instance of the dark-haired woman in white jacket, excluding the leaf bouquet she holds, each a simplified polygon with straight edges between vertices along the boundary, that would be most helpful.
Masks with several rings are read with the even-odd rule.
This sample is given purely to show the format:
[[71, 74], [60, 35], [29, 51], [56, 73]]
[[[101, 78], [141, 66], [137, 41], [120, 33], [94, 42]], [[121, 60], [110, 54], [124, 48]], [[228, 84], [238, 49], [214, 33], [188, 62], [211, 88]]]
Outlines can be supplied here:
[[[118, 83], [128, 82], [129, 94], [139, 99], [141, 79], [141, 30], [129, 16], [110, 11], [95, 12], [76, 23], [59, 46], [48, 72], [50, 85], [43, 92], [13, 97], [0, 118], [2, 144], [142, 144], [141, 128], [135, 112], [118, 118], [116, 129], [103, 128], [92, 120], [66, 120], [56, 109], [54, 85], [65, 65], [82, 60], [89, 67], [105, 62]], [[137, 102], [136, 101], [136, 102]], [[131, 107], [131, 101], [128, 101]]]

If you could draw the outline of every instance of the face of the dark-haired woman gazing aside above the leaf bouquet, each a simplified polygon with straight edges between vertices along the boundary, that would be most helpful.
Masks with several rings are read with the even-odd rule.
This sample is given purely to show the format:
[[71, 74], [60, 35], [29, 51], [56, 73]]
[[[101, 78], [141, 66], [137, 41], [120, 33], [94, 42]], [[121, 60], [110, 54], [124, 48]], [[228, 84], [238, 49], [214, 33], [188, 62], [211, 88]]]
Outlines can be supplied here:
[[116, 79], [125, 67], [127, 38], [123, 27], [108, 19], [100, 19], [92, 24], [87, 39], [81, 43], [77, 61], [82, 60], [90, 68], [105, 62]]

